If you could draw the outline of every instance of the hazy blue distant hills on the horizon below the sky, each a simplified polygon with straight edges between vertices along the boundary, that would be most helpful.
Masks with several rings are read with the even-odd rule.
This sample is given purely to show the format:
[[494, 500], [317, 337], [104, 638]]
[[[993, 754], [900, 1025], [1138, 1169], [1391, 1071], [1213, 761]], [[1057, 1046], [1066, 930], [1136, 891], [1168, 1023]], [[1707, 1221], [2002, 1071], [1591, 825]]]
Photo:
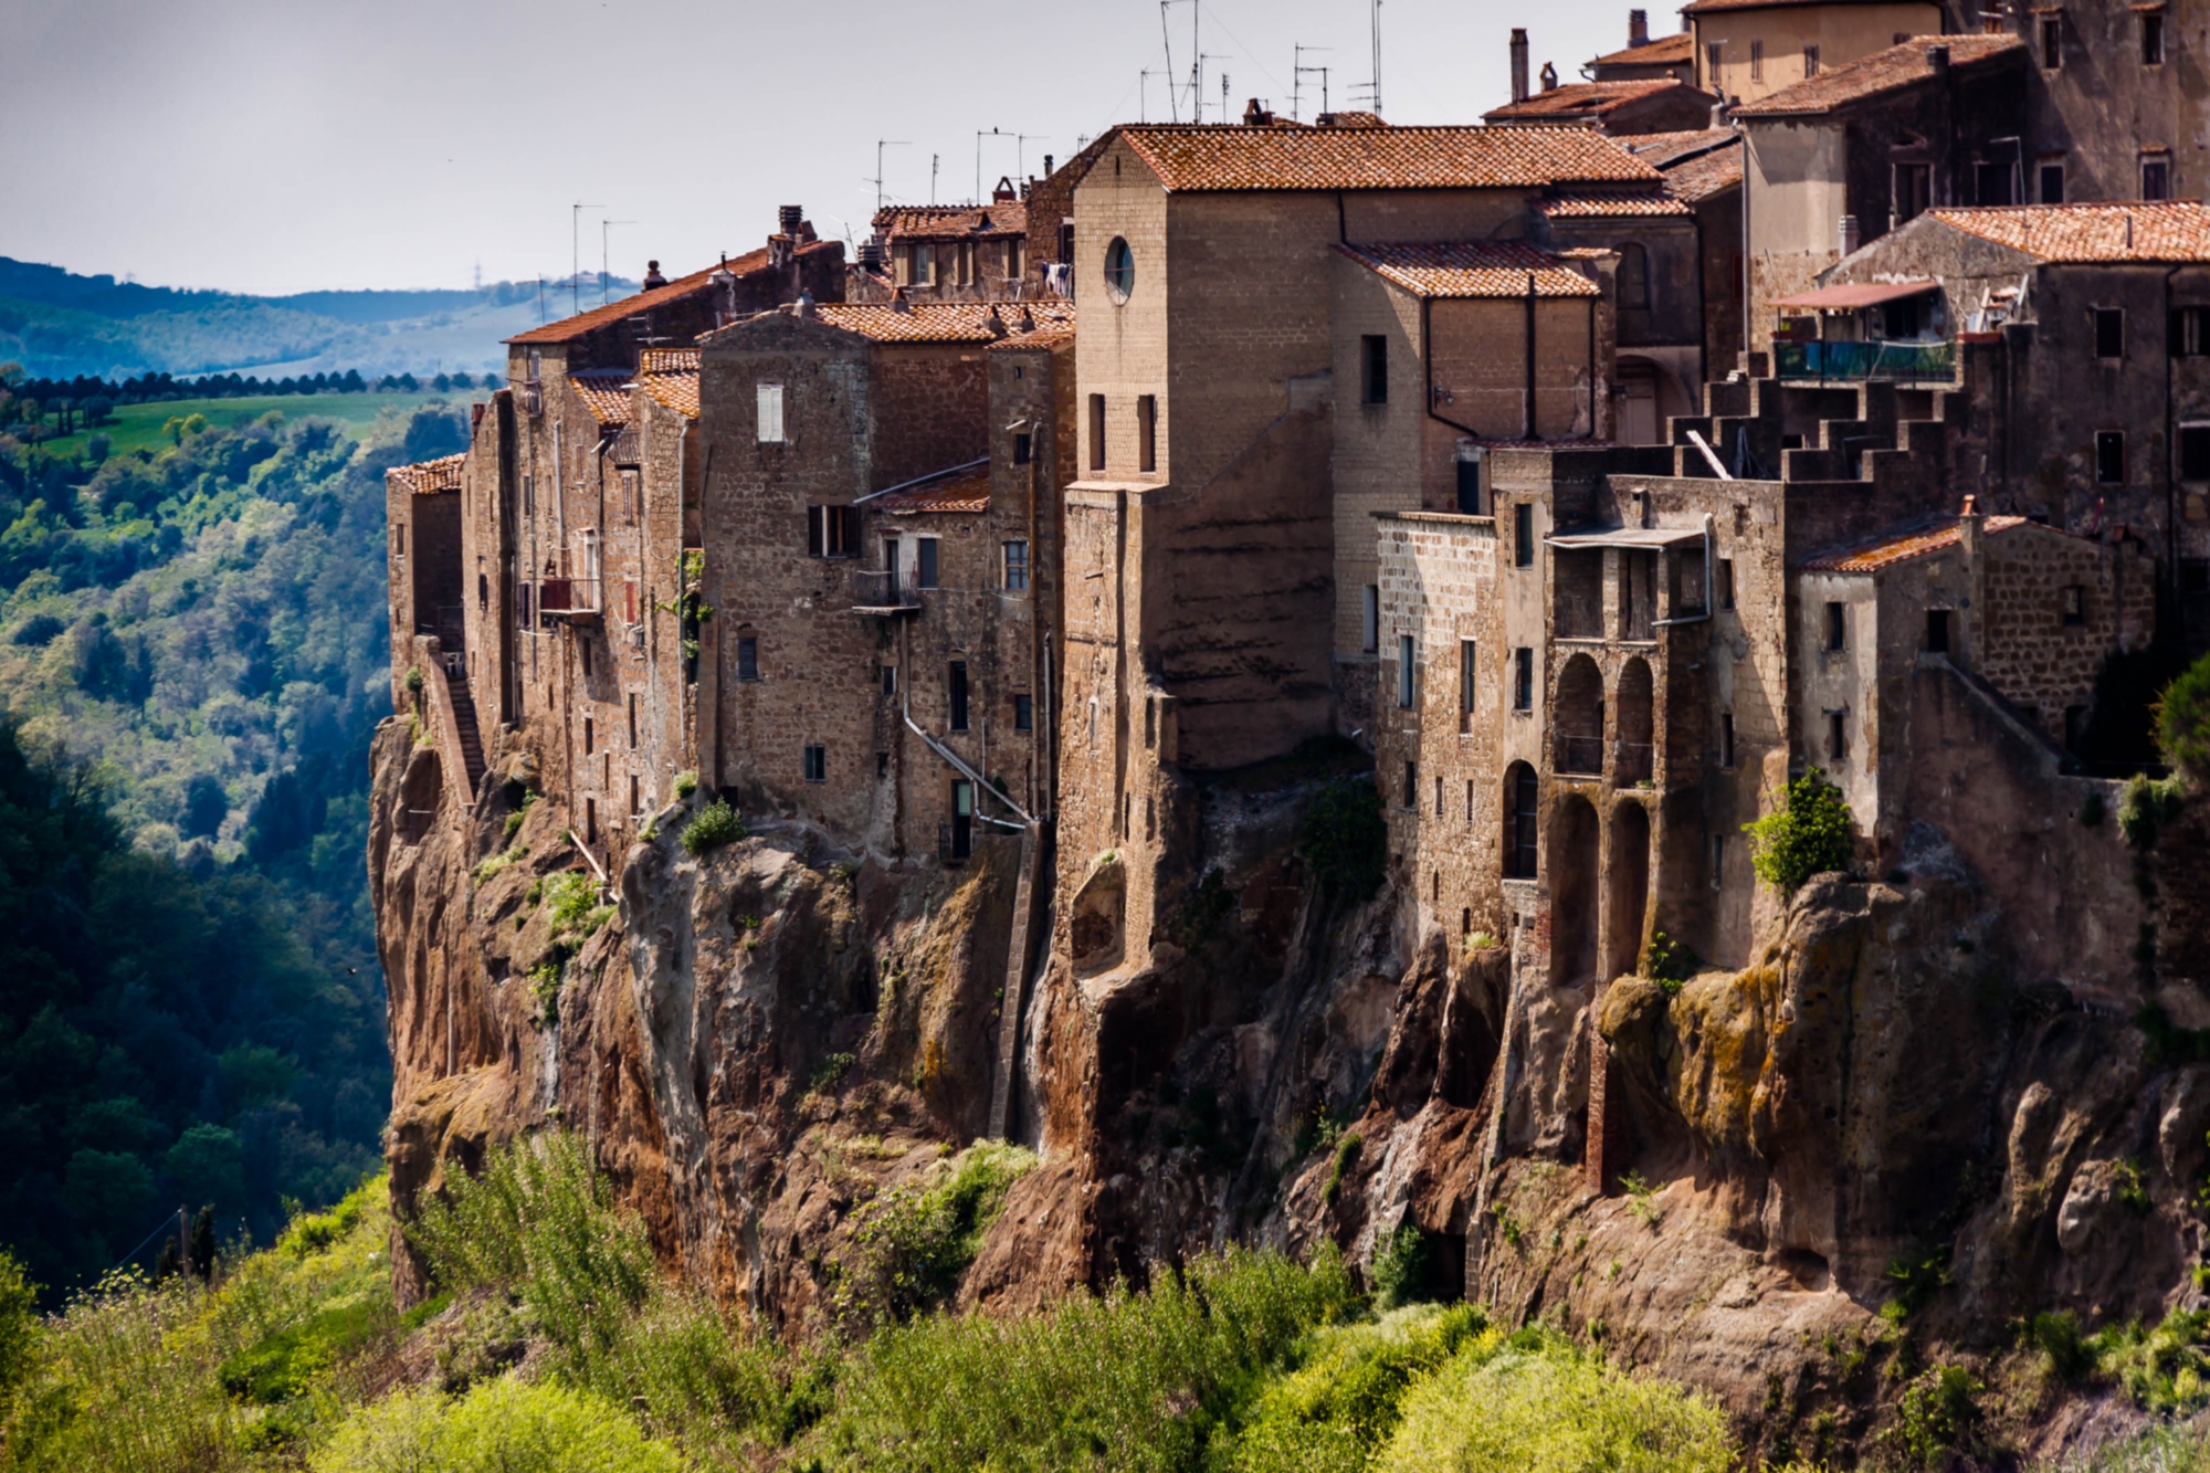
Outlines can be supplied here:
[[[623, 296], [636, 283], [617, 276], [603, 290]], [[581, 292], [586, 301], [599, 296], [597, 274]], [[245, 296], [80, 276], [0, 257], [0, 363], [22, 363], [33, 378], [480, 374], [504, 367], [502, 338], [564, 316], [568, 303], [566, 279], [499, 281], [480, 290]]]

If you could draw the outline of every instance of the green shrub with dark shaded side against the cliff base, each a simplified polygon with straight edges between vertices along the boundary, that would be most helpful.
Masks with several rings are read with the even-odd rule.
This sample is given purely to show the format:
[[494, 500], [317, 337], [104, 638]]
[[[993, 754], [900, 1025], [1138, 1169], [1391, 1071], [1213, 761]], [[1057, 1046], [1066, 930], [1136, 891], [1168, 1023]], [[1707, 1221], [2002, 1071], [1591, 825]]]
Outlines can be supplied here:
[[928, 1185], [902, 1185], [860, 1208], [838, 1263], [835, 1309], [846, 1323], [911, 1318], [959, 1287], [1006, 1192], [1036, 1163], [1021, 1146], [981, 1141]]

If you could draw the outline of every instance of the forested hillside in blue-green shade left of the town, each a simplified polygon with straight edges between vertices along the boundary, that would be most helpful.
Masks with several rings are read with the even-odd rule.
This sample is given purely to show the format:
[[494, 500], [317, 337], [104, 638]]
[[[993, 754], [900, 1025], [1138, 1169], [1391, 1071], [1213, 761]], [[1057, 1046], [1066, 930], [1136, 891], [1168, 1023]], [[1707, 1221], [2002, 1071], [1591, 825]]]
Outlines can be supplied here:
[[177, 1203], [332, 1201], [389, 1095], [382, 471], [462, 411], [175, 409], [97, 464], [0, 436], [0, 1239], [53, 1287]]

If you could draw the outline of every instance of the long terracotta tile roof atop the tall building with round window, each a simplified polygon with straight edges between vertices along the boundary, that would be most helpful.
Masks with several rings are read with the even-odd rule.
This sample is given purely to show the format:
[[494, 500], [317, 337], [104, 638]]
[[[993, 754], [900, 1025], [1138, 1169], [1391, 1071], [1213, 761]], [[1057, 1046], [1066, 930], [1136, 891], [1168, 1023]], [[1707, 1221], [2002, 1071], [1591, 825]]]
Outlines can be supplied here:
[[1118, 137], [1169, 190], [1540, 188], [1658, 177], [1587, 128], [1132, 124]]

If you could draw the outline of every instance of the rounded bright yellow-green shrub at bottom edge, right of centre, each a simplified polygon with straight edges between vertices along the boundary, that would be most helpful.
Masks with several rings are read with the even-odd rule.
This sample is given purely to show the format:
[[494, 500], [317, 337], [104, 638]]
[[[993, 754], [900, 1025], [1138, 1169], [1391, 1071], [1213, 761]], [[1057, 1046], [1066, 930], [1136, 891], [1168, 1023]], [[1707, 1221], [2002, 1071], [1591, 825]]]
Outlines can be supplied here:
[[1403, 1400], [1381, 1473], [1724, 1473], [1726, 1418], [1540, 1331], [1463, 1347]]

